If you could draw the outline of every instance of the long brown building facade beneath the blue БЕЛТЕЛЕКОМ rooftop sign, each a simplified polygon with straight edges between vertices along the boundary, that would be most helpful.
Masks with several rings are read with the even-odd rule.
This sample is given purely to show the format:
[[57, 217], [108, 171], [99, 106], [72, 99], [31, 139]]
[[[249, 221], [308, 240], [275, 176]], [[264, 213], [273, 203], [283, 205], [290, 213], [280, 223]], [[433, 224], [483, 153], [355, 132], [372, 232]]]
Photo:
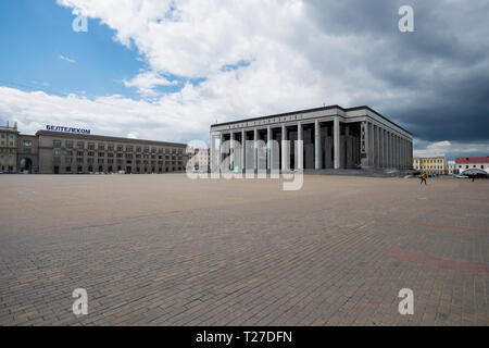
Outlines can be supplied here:
[[186, 165], [185, 144], [38, 130], [41, 174], [167, 173]]

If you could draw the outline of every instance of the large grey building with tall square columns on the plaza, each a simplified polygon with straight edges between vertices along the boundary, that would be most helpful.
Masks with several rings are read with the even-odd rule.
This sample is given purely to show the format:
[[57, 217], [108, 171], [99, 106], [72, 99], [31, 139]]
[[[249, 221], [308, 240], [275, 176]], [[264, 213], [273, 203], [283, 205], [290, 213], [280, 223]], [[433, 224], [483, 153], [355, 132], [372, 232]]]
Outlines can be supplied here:
[[368, 107], [330, 105], [211, 126], [213, 172], [412, 164], [411, 133]]

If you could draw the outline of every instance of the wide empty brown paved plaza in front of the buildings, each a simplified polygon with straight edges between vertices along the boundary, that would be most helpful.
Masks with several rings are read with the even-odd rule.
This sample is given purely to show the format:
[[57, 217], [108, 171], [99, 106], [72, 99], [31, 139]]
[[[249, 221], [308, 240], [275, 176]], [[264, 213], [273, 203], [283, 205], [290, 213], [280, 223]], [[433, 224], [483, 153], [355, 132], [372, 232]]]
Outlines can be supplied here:
[[1, 175], [0, 325], [488, 325], [488, 197], [451, 177]]

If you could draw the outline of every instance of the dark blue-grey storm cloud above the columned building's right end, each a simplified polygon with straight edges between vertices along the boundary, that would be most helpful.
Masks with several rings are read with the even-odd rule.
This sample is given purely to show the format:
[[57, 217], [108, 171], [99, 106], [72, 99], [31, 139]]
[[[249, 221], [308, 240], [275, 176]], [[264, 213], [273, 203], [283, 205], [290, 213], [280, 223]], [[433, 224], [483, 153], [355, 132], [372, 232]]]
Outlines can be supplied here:
[[[398, 29], [403, 4], [414, 9], [415, 33]], [[488, 1], [317, 0], [306, 8], [326, 35], [360, 39], [362, 53], [338, 64], [362, 66], [368, 79], [358, 88], [384, 97], [359, 94], [353, 103], [378, 109], [421, 140], [489, 139]]]

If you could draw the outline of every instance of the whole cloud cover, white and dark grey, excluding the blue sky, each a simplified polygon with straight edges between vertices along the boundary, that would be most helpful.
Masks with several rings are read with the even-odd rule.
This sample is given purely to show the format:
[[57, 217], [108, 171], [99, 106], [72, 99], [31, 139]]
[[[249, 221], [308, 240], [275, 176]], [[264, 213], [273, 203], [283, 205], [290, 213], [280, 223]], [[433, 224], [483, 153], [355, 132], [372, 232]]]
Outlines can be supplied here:
[[[5, 117], [27, 123], [59, 115], [118, 135], [206, 140], [216, 119], [367, 104], [411, 130], [416, 150], [443, 149], [428, 146], [447, 140], [450, 151], [487, 152], [473, 146], [488, 141], [487, 1], [58, 3], [83, 9], [114, 29], [117, 42], [138, 50], [148, 70], [123, 83], [142, 100], [32, 92], [10, 104], [20, 92], [1, 89]], [[415, 33], [398, 29], [403, 4], [414, 9]], [[158, 88], [191, 79], [200, 83], [171, 92]]]

